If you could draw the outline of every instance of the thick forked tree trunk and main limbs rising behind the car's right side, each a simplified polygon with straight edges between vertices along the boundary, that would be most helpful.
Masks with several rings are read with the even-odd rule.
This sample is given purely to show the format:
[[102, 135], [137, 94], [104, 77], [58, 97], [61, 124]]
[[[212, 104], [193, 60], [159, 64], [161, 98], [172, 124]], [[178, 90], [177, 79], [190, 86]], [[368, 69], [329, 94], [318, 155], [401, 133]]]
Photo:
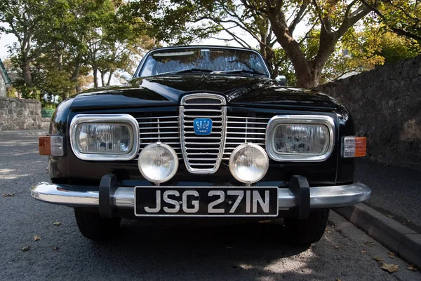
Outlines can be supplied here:
[[[267, 17], [271, 23], [276, 41], [285, 50], [295, 70], [298, 85], [312, 88], [319, 84], [323, 68], [330, 55], [335, 52], [339, 39], [349, 28], [365, 17], [370, 9], [359, 1], [326, 0], [326, 1], [241, 1], [245, 8], [255, 11], [262, 17]], [[293, 8], [292, 21], [288, 23], [287, 12]], [[320, 25], [317, 53], [314, 57], [306, 56], [300, 47], [300, 42], [294, 37], [297, 25], [305, 18]]]

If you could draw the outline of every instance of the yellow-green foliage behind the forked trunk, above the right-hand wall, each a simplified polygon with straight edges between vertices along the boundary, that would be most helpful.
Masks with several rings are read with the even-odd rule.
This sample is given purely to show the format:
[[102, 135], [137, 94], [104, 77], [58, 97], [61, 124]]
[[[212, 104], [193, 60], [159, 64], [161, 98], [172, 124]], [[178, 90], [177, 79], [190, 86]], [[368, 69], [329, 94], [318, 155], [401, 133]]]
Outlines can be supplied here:
[[[307, 34], [301, 43], [306, 57], [317, 54], [319, 30]], [[295, 85], [294, 69], [285, 52], [275, 48], [279, 72], [287, 77], [288, 85]], [[351, 28], [342, 36], [335, 47], [335, 52], [326, 62], [320, 83], [337, 80], [349, 74], [368, 71], [384, 64], [394, 64], [421, 54], [421, 46], [413, 39], [406, 39], [375, 24], [367, 18], [358, 29]]]

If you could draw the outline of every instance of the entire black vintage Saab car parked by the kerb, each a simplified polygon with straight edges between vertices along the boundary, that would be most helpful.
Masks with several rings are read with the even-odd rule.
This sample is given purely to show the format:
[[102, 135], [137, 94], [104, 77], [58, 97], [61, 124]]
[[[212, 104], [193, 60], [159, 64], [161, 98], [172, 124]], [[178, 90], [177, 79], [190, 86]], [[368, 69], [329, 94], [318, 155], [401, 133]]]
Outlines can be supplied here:
[[282, 85], [255, 50], [158, 48], [124, 82], [62, 102], [39, 139], [51, 183], [31, 196], [74, 207], [86, 238], [109, 237], [121, 218], [283, 218], [309, 243], [323, 235], [329, 208], [370, 198], [354, 182], [366, 139], [355, 136], [349, 111]]

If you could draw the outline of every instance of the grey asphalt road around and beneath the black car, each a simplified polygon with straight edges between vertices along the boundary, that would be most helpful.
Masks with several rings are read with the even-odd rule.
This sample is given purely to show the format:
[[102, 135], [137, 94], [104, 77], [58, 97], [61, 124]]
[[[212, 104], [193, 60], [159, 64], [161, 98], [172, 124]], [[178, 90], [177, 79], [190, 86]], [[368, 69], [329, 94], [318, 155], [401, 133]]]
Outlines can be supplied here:
[[[36, 145], [36, 136], [0, 135], [1, 194], [14, 195], [0, 196], [0, 280], [421, 280], [333, 212], [311, 246], [289, 244], [279, 223], [192, 228], [123, 221], [116, 240], [90, 242], [71, 208], [30, 198], [32, 184], [48, 181]], [[387, 273], [374, 256], [399, 271]]]

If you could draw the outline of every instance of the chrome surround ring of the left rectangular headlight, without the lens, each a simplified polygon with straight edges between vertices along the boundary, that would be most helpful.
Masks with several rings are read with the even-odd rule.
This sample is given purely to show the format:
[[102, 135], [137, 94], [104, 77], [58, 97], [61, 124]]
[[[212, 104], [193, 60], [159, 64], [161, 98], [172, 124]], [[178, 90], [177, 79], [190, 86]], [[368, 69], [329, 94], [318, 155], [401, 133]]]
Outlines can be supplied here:
[[[127, 125], [130, 129], [131, 140], [133, 145], [127, 153], [82, 153], [76, 144], [76, 128], [81, 123], [110, 123]], [[74, 155], [81, 160], [101, 160], [101, 161], [117, 161], [131, 160], [135, 158], [139, 151], [139, 124], [136, 119], [129, 114], [78, 114], [74, 116], [70, 123], [70, 146]]]

